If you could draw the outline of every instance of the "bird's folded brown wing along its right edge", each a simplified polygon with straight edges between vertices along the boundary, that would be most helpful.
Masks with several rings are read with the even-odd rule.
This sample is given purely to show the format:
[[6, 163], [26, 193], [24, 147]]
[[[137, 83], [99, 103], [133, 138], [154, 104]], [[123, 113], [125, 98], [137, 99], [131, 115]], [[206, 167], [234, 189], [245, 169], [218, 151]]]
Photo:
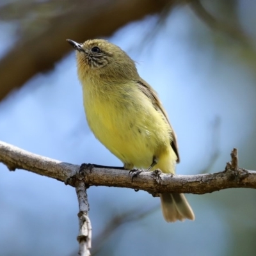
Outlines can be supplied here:
[[173, 151], [175, 152], [175, 154], [177, 156], [177, 163], [179, 163], [180, 157], [179, 157], [179, 148], [178, 148], [178, 143], [177, 143], [177, 137], [176, 137], [175, 132], [172, 129], [172, 125], [170, 124], [167, 113], [164, 110], [163, 105], [161, 104], [161, 101], [159, 100], [159, 97], [157, 96], [156, 91], [143, 79], [140, 79], [140, 81], [137, 81], [137, 84], [138, 84], [141, 92], [143, 92], [145, 95], [147, 95], [147, 97], [152, 101], [154, 108], [156, 108], [157, 111], [159, 111], [163, 114], [164, 118], [166, 119], [166, 122], [168, 122], [168, 124], [170, 125], [171, 137], [172, 137], [172, 141], [170, 141], [170, 143], [171, 143], [171, 147], [172, 147]]

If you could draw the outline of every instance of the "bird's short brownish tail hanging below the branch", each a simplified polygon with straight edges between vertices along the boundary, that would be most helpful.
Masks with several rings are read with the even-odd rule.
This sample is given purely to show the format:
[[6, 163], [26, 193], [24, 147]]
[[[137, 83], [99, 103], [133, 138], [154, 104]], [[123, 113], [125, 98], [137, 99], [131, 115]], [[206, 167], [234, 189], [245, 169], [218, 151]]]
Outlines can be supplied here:
[[167, 222], [195, 220], [194, 212], [184, 194], [163, 193], [160, 198], [164, 220]]

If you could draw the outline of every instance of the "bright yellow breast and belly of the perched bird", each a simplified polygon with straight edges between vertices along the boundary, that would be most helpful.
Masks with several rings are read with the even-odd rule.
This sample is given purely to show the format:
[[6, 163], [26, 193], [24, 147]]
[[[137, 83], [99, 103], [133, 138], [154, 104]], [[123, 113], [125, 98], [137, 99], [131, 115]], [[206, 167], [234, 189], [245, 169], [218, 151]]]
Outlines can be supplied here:
[[170, 147], [170, 126], [143, 93], [132, 93], [120, 99], [120, 93], [109, 97], [84, 90], [90, 129], [124, 164], [148, 168], [157, 157], [154, 169], [173, 173], [176, 156]]

